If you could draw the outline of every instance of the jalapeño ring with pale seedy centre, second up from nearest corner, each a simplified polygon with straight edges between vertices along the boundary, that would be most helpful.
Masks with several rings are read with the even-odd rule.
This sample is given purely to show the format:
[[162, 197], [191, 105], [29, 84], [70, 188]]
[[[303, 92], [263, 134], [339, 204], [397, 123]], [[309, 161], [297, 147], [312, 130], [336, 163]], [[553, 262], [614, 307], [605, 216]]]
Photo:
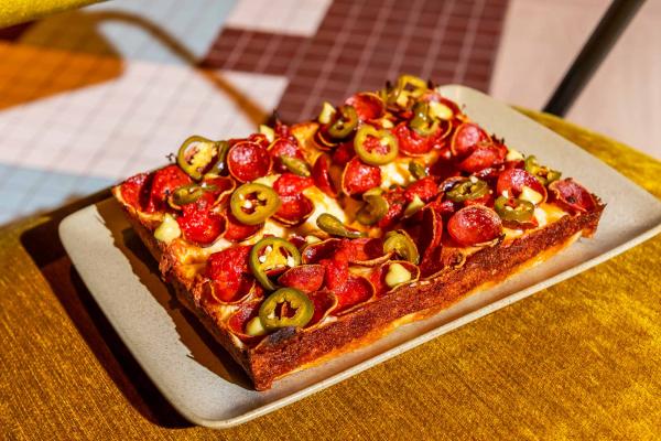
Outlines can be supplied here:
[[290, 241], [280, 237], [264, 237], [250, 250], [250, 270], [264, 289], [273, 291], [275, 284], [269, 272], [301, 265], [301, 252]]

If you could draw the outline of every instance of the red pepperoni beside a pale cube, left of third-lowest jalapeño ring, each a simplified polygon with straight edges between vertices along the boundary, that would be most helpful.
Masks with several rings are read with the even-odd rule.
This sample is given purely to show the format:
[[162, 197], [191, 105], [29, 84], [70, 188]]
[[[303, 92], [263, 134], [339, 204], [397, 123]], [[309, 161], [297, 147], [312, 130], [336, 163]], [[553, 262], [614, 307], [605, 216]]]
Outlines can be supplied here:
[[176, 222], [186, 240], [209, 245], [220, 236], [225, 229], [225, 219], [212, 211], [215, 201], [212, 193], [205, 193], [197, 201], [182, 207], [182, 215], [177, 216]]

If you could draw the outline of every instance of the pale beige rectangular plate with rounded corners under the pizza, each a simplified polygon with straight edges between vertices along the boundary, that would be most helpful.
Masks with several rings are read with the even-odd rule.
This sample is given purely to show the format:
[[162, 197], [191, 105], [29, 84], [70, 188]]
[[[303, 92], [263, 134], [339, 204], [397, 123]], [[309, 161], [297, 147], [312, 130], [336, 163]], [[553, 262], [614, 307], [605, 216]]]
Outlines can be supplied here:
[[535, 154], [596, 192], [608, 204], [596, 237], [581, 239], [544, 263], [367, 347], [288, 376], [271, 390], [252, 390], [240, 367], [176, 301], [118, 203], [107, 200], [62, 222], [64, 247], [93, 297], [185, 418], [217, 429], [249, 421], [594, 267], [661, 230], [661, 203], [581, 148], [477, 90], [455, 85], [440, 90], [464, 105], [489, 132], [505, 137], [508, 146]]

